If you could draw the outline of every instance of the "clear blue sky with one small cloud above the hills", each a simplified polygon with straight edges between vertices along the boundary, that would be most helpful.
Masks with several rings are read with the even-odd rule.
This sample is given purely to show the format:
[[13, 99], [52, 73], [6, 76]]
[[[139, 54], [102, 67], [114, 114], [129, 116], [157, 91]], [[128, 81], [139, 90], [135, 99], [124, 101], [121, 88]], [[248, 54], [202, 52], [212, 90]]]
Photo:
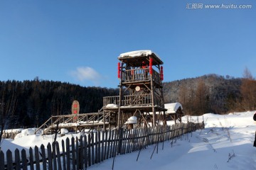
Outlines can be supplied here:
[[245, 67], [255, 77], [256, 1], [0, 1], [1, 81], [39, 77], [115, 88], [117, 57], [133, 50], [156, 52], [164, 81], [242, 77]]

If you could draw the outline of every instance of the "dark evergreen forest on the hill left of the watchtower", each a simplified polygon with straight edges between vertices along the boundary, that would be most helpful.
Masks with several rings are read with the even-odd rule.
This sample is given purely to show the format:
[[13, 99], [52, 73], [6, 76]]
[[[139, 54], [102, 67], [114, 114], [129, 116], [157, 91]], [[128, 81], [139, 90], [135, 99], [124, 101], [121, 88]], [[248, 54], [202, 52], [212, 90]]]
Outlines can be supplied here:
[[80, 113], [92, 113], [102, 108], [103, 96], [118, 94], [118, 89], [60, 81], [0, 81], [0, 120], [5, 128], [38, 127], [51, 115], [70, 114], [74, 100], [80, 102]]

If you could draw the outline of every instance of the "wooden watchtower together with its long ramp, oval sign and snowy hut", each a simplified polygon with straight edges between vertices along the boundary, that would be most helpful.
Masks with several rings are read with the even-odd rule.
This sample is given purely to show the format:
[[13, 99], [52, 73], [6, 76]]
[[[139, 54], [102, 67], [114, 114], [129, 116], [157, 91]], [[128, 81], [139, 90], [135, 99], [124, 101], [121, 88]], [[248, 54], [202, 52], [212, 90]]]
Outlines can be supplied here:
[[[79, 113], [78, 101], [73, 102], [71, 115], [51, 116], [38, 130], [43, 135], [60, 132], [61, 128], [82, 131], [85, 128], [133, 128], [166, 124], [166, 115], [181, 122], [180, 103], [164, 107], [162, 80], [164, 62], [151, 50], [126, 52], [118, 57], [119, 96], [103, 97], [97, 113]], [[38, 131], [36, 130], [36, 131]]]

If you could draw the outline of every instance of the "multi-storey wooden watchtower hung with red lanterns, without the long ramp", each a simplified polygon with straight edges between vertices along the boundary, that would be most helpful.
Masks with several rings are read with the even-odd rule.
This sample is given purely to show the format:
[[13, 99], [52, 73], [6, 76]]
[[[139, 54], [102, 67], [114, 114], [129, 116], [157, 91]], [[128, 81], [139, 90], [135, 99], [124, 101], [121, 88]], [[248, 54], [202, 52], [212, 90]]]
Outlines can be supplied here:
[[166, 123], [163, 94], [164, 62], [151, 50], [119, 55], [119, 96], [103, 98], [103, 111], [112, 115], [110, 125], [122, 127], [131, 116], [137, 125]]

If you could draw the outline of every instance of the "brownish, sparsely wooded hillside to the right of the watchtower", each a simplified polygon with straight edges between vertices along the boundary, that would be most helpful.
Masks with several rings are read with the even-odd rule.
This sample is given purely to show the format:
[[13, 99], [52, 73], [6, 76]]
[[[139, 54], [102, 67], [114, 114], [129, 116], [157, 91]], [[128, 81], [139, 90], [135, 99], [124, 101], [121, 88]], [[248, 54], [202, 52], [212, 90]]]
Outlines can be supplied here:
[[256, 81], [247, 72], [244, 78], [208, 74], [164, 83], [165, 103], [179, 102], [188, 115], [224, 114], [256, 109]]

